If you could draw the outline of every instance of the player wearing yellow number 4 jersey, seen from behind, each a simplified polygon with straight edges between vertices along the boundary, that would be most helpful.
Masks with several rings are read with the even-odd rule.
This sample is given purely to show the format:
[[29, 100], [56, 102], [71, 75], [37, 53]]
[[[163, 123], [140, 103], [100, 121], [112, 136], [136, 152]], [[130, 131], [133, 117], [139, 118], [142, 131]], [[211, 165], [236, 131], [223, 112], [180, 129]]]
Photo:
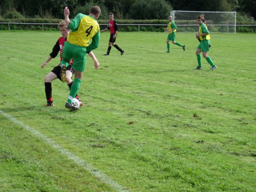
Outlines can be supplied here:
[[[73, 68], [75, 70], [75, 79], [70, 88], [70, 94], [65, 104], [66, 108], [71, 111], [78, 110], [79, 106], [73, 104], [73, 98], [79, 90], [81, 79], [86, 64], [86, 52], [96, 49], [99, 46], [99, 24], [96, 19], [99, 18], [100, 8], [93, 6], [89, 15], [79, 13], [70, 21], [70, 11], [68, 7], [64, 9], [64, 17], [68, 29], [72, 32], [67, 36], [67, 41], [63, 47], [62, 60], [61, 60], [61, 80], [65, 82], [65, 70], [70, 60], [73, 58]], [[89, 45], [89, 41], [92, 40]]]

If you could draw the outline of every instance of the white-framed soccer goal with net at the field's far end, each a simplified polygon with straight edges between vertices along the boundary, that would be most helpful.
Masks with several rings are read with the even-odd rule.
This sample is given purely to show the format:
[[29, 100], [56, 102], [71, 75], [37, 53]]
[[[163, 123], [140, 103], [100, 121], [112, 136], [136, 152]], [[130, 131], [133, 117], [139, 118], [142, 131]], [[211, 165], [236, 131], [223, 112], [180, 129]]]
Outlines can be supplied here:
[[178, 32], [198, 32], [196, 19], [201, 14], [204, 14], [209, 32], [236, 33], [236, 12], [171, 12]]

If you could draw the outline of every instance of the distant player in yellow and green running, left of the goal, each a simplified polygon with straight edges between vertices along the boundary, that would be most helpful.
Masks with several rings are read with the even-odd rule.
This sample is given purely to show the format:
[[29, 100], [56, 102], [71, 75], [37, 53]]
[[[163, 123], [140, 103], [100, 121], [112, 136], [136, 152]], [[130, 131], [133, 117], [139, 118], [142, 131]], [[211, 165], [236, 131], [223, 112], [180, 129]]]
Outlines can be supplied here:
[[170, 40], [172, 40], [172, 44], [182, 47], [183, 51], [185, 51], [185, 45], [180, 44], [179, 42], [175, 42], [175, 40], [176, 40], [175, 32], [176, 32], [177, 26], [175, 25], [174, 21], [172, 20], [171, 15], [169, 16], [169, 21], [170, 21], [170, 23], [168, 25], [168, 28], [164, 29], [165, 31], [169, 32], [169, 35], [167, 36], [167, 40], [166, 40], [166, 43], [167, 43], [167, 51], [166, 52], [170, 52], [170, 44], [169, 44]]

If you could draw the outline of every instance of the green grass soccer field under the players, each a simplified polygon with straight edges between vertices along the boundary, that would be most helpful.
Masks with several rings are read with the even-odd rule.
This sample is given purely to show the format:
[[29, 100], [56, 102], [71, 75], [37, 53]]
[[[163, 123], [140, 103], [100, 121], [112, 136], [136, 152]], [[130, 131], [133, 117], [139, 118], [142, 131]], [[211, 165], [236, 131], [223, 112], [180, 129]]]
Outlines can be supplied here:
[[43, 106], [59, 36], [0, 31], [0, 191], [255, 191], [256, 34], [211, 34], [209, 71], [195, 34], [120, 32], [106, 57], [105, 32], [76, 112], [59, 80]]

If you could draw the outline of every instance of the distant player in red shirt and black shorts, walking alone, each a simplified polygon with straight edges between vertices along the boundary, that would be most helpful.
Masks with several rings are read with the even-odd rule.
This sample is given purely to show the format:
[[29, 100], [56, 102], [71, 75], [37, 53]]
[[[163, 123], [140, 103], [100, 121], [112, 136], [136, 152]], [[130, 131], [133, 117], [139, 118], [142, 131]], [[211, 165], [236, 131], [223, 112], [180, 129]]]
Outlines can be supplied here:
[[111, 50], [111, 46], [116, 47], [117, 50], [119, 50], [121, 52], [121, 55], [124, 54], [124, 50], [120, 49], [120, 47], [118, 47], [118, 45], [115, 44], [116, 42], [116, 36], [118, 33], [118, 25], [116, 23], [116, 21], [114, 20], [114, 14], [110, 13], [109, 14], [109, 22], [108, 22], [108, 27], [106, 29], [101, 30], [102, 32], [108, 31], [108, 29], [110, 30], [110, 38], [109, 38], [109, 42], [108, 42], [108, 51], [105, 54], [106, 56], [109, 55], [109, 52]]

